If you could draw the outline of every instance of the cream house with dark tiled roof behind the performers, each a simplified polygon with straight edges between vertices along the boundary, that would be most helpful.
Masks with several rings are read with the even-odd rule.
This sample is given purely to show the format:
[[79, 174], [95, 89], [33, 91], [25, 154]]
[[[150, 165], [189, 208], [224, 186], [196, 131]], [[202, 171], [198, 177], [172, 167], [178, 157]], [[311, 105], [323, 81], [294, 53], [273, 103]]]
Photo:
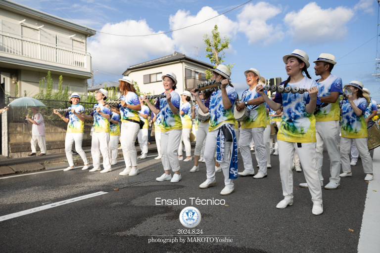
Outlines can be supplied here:
[[195, 88], [197, 83], [206, 80], [205, 71], [214, 66], [185, 54], [174, 52], [173, 54], [130, 66], [124, 76], [131, 77], [139, 85], [143, 93], [159, 94], [164, 91], [162, 87], [162, 75], [173, 72], [177, 76], [177, 92]]

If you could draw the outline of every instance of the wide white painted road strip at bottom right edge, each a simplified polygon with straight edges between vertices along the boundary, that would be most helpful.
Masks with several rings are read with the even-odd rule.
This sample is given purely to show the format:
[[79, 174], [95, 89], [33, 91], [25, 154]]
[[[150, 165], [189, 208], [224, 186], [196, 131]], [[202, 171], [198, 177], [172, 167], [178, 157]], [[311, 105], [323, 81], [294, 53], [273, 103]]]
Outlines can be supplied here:
[[374, 179], [368, 183], [358, 253], [379, 252], [380, 248], [380, 147], [374, 150], [372, 162]]

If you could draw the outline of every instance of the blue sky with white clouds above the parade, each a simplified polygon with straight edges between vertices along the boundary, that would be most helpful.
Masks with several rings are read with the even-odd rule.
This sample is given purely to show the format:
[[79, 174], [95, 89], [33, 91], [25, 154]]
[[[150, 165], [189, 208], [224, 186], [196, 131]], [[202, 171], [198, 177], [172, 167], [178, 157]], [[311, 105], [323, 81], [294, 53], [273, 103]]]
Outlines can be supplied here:
[[[119, 35], [182, 28], [245, 1], [16, 0], [97, 31]], [[99, 70], [95, 73], [95, 84], [115, 81], [130, 65], [174, 51], [196, 58], [194, 46], [200, 47], [198, 59], [208, 62], [204, 57], [203, 35], [211, 34], [216, 24], [222, 36], [232, 41], [225, 61], [235, 63], [231, 78], [239, 93], [246, 88], [243, 72], [249, 68], [258, 69], [267, 79], [285, 80], [282, 57], [297, 48], [308, 53], [311, 62], [308, 70], [313, 79], [317, 77], [312, 62], [320, 53], [331, 53], [337, 61], [332, 74], [341, 77], [343, 84], [352, 80], [362, 82], [380, 103], [380, 81], [372, 75], [380, 73], [376, 61], [380, 58], [377, 0], [252, 0], [201, 25], [165, 35], [131, 38], [97, 33], [88, 39], [93, 70]]]

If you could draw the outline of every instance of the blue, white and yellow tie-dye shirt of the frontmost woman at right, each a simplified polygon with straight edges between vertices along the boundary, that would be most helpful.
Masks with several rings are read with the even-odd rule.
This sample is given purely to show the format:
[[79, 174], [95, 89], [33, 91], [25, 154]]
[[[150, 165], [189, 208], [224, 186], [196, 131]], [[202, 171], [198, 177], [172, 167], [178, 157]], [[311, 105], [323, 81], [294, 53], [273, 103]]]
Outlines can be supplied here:
[[[280, 85], [284, 85], [284, 83], [285, 82], [281, 83]], [[300, 88], [318, 88], [318, 84], [307, 77], [303, 77], [303, 79], [298, 83], [288, 83], [287, 86], [297, 86]], [[278, 140], [297, 143], [317, 141], [317, 138], [315, 136], [314, 114], [308, 114], [306, 112], [306, 105], [310, 101], [309, 92], [304, 92], [303, 94], [277, 92], [276, 97], [273, 101], [282, 104], [284, 107], [284, 114], [282, 116], [279, 132], [277, 133]], [[317, 105], [320, 103], [321, 98], [318, 92]]]

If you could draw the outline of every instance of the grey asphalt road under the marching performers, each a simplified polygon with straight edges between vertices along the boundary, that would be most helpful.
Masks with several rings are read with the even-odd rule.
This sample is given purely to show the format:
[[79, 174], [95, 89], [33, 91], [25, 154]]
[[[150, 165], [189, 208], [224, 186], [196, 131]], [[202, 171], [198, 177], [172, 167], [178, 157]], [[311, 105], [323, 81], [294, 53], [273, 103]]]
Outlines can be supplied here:
[[[149, 154], [151, 155], [151, 154]], [[330, 160], [324, 153], [323, 175], [329, 181]], [[256, 161], [253, 157], [253, 164]], [[0, 251], [5, 252], [333, 252], [356, 253], [367, 193], [359, 160], [353, 176], [342, 178], [337, 190], [323, 189], [324, 213], [311, 213], [303, 172], [293, 172], [294, 203], [276, 209], [283, 199], [278, 156], [271, 156], [268, 177], [234, 180], [235, 193], [221, 196], [223, 174], [208, 189], [205, 164], [190, 173], [193, 161], [180, 162], [182, 180], [157, 182], [160, 160], [139, 161], [140, 174], [120, 176], [123, 162], [105, 174], [75, 169], [0, 179], [0, 216], [44, 204], [103, 191], [107, 194], [0, 222]], [[243, 164], [239, 155], [239, 171]], [[257, 169], [255, 169], [257, 171]], [[114, 190], [118, 189], [118, 190]], [[156, 198], [185, 199], [186, 205], [158, 206]], [[190, 198], [223, 199], [226, 205], [191, 205]], [[148, 243], [151, 238], [180, 238], [181, 210], [196, 207], [202, 215], [196, 229], [202, 236], [181, 236], [185, 243]], [[353, 229], [349, 232], [348, 229]], [[188, 242], [188, 238], [227, 238], [230, 242]], [[232, 239], [232, 241], [231, 241]], [[179, 239], [178, 239], [179, 240]], [[198, 239], [199, 240], [199, 239]]]

